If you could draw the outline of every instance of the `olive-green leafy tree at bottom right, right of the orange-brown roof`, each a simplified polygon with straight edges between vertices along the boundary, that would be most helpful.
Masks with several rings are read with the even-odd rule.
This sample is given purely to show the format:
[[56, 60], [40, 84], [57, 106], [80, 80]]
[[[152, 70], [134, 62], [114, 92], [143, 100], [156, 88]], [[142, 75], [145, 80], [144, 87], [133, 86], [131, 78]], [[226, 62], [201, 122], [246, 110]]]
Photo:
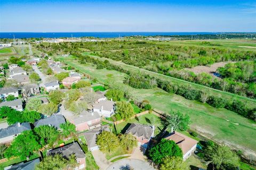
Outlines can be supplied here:
[[232, 169], [239, 165], [239, 158], [227, 146], [207, 147], [208, 157], [218, 169]]

